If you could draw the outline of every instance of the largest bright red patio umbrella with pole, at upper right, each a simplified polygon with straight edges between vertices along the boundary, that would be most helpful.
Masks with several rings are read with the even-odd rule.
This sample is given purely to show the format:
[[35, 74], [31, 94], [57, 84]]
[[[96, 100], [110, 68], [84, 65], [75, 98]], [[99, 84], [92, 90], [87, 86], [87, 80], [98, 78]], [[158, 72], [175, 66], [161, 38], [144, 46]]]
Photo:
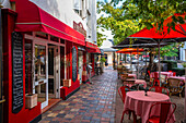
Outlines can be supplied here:
[[[159, 79], [161, 82], [161, 67], [160, 67], [160, 46], [162, 42], [177, 42], [177, 41], [185, 41], [186, 35], [181, 34], [178, 32], [174, 32], [173, 29], [167, 32], [167, 26], [163, 26], [163, 30], [156, 32], [156, 28], [153, 27], [151, 29], [143, 28], [138, 33], [130, 35], [128, 38], [137, 38], [144, 40], [146, 44], [152, 42], [158, 44], [159, 48]], [[175, 27], [177, 30], [182, 29], [179, 27]], [[161, 83], [160, 83], [161, 86]]]

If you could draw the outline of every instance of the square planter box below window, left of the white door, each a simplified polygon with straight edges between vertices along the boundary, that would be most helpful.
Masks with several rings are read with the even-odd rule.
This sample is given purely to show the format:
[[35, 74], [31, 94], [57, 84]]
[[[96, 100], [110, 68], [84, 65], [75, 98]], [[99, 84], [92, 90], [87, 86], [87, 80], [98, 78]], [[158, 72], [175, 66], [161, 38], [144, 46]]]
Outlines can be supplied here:
[[25, 108], [32, 109], [37, 106], [37, 94], [25, 96]]

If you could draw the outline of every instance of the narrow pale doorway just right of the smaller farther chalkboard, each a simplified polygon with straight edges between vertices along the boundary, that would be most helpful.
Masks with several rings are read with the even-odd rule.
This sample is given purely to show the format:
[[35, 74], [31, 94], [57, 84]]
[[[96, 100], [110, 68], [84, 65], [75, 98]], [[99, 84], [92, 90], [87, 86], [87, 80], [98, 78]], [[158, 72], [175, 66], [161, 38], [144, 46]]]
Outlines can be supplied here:
[[83, 51], [78, 51], [78, 59], [79, 59], [79, 76], [80, 76], [80, 84], [82, 84], [82, 72], [83, 72]]

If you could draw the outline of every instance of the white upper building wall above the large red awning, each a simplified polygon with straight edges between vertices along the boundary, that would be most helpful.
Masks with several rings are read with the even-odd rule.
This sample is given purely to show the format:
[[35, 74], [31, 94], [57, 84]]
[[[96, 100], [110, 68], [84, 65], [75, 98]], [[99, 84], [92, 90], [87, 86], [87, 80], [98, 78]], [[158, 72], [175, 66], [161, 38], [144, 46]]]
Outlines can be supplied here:
[[[74, 0], [30, 0], [44, 11], [73, 28], [73, 21], [82, 23], [86, 30], [86, 40], [96, 41], [96, 0], [84, 1], [84, 13], [80, 16], [74, 11]], [[88, 11], [90, 16], [88, 15]], [[89, 19], [88, 19], [89, 16]], [[89, 24], [88, 24], [89, 23]], [[90, 39], [89, 39], [90, 38]]]

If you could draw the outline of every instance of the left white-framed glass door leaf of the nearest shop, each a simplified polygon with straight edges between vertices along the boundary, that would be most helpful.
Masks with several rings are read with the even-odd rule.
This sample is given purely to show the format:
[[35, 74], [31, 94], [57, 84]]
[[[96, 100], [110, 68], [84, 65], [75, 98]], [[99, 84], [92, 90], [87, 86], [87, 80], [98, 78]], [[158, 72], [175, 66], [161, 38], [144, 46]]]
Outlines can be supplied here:
[[48, 51], [46, 44], [38, 41], [33, 44], [33, 93], [37, 94], [37, 101], [42, 102], [42, 109], [48, 106]]

